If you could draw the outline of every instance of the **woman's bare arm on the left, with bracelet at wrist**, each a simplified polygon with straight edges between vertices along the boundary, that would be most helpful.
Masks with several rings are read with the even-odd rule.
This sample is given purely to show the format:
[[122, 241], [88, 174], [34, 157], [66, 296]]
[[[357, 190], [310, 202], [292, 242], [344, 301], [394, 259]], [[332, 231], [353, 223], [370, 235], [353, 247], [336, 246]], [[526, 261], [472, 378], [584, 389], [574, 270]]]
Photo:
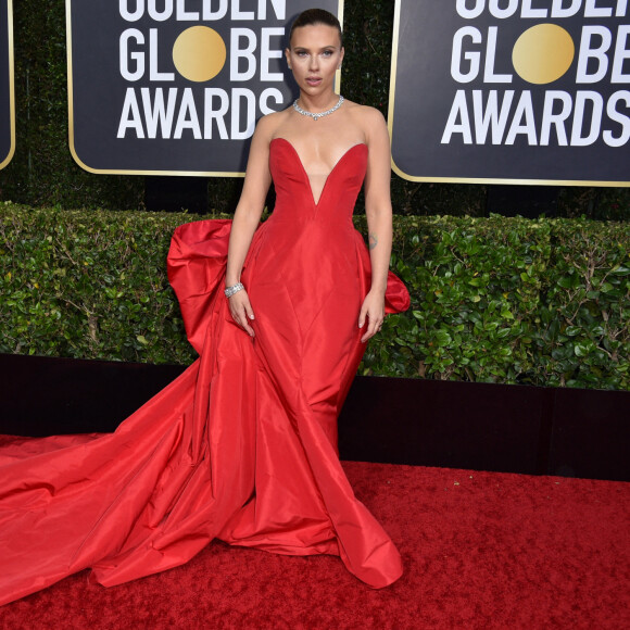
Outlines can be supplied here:
[[[268, 118], [261, 118], [252, 138], [243, 190], [234, 215], [229, 236], [226, 287], [240, 282], [245, 256], [261, 220], [265, 198], [272, 182], [269, 173], [272, 125], [269, 123]], [[247, 289], [238, 291], [228, 300], [234, 320], [253, 337], [254, 330], [250, 326], [250, 320], [254, 318], [254, 312]]]

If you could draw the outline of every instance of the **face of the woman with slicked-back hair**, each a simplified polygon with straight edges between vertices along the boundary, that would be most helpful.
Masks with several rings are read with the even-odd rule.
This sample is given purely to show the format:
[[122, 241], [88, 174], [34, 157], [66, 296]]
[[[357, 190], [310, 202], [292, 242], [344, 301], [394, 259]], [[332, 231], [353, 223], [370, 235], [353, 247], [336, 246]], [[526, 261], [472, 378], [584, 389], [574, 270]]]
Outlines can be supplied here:
[[343, 60], [337, 28], [327, 24], [295, 28], [285, 54], [300, 90], [310, 96], [333, 91], [335, 73]]

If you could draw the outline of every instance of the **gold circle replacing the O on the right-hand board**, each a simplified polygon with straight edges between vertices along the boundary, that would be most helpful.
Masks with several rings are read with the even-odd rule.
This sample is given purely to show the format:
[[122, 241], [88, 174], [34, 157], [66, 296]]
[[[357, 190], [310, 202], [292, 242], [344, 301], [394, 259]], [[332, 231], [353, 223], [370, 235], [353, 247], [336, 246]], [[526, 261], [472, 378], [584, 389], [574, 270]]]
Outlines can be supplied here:
[[576, 54], [571, 36], [555, 24], [528, 28], [514, 45], [512, 63], [517, 74], [530, 84], [551, 84], [570, 67]]

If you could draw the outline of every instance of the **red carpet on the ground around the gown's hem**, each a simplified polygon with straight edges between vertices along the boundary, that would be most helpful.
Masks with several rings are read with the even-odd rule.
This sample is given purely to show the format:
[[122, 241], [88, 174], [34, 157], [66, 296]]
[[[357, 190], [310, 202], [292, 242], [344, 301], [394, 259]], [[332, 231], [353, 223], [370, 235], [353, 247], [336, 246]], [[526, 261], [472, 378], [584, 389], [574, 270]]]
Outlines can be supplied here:
[[213, 543], [122, 587], [73, 576], [0, 608], [0, 628], [630, 628], [629, 483], [344, 468], [403, 555], [392, 587], [369, 589], [336, 557]]

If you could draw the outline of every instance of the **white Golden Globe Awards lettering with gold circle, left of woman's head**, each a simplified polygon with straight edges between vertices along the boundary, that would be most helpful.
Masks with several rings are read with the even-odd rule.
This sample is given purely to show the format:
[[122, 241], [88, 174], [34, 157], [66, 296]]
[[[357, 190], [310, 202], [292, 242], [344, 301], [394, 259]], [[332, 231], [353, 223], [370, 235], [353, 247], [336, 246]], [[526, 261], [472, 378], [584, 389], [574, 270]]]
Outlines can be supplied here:
[[[285, 76], [270, 70], [273, 60], [282, 56], [285, 27], [254, 30], [238, 24], [285, 22], [287, 0], [119, 0], [118, 11], [129, 24], [142, 21], [142, 28], [129, 26], [119, 36], [121, 77], [129, 84], [149, 85], [127, 87], [117, 138], [180, 139], [187, 134], [196, 140], [216, 136], [243, 140], [252, 136], [259, 115], [285, 104], [282, 92], [273, 87]], [[231, 22], [228, 43], [207, 26], [225, 20]], [[197, 24], [185, 28], [175, 41], [163, 41], [160, 25], [167, 21]], [[171, 62], [164, 67], [159, 55], [163, 47], [172, 48]], [[200, 90], [200, 84], [222, 72], [229, 73], [230, 89], [209, 86]], [[177, 75], [197, 85], [180, 87]], [[259, 93], [243, 86], [254, 77], [269, 87]]]

